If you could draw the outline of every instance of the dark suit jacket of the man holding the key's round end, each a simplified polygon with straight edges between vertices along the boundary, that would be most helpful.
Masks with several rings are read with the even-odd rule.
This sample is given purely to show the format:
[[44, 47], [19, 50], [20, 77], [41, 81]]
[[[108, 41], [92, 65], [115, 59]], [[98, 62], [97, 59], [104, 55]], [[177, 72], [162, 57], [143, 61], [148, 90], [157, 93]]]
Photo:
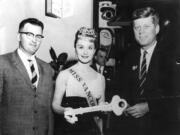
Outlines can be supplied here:
[[172, 134], [174, 128], [174, 108], [171, 102], [173, 95], [172, 65], [168, 50], [162, 49], [161, 45], [157, 44], [150, 61], [144, 93], [140, 96], [138, 92], [140, 48], [133, 48], [127, 54], [121, 74], [123, 92], [120, 95], [123, 95], [131, 106], [141, 102], [147, 102], [149, 106], [149, 112], [143, 117], [125, 118], [129, 119], [130, 124], [129, 126], [127, 124], [127, 127], [130, 134], [134, 132], [137, 132], [137, 135]]

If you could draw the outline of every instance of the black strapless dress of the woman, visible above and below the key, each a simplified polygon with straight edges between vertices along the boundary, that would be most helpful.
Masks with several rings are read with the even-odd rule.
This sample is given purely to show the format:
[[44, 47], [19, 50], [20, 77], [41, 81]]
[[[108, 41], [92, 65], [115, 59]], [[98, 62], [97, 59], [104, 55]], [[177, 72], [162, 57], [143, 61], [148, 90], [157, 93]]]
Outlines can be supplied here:
[[[83, 97], [64, 97], [63, 106], [79, 108], [88, 107], [86, 98]], [[94, 122], [94, 113], [77, 115], [78, 121], [70, 124], [65, 121], [64, 128], [67, 135], [95, 135], [96, 123]]]

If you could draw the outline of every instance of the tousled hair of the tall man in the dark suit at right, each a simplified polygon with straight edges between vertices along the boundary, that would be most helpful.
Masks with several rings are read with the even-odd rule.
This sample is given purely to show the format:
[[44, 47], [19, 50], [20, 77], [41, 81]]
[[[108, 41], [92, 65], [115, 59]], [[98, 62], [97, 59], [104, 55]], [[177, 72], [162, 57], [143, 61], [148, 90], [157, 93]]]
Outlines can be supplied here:
[[132, 14], [132, 19], [136, 20], [136, 19], [146, 18], [146, 17], [150, 17], [150, 16], [152, 16], [153, 23], [155, 25], [159, 24], [159, 14], [152, 7], [136, 9]]

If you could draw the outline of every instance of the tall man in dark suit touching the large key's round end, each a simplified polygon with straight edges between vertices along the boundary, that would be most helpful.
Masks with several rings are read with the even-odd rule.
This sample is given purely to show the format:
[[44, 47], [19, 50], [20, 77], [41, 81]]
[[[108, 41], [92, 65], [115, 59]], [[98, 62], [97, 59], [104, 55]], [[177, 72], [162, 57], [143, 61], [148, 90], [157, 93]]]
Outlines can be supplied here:
[[127, 135], [173, 134], [173, 68], [165, 43], [157, 40], [158, 13], [151, 7], [135, 10], [133, 31], [137, 44], [129, 49], [122, 72], [121, 95], [129, 106], [119, 118], [119, 131]]

